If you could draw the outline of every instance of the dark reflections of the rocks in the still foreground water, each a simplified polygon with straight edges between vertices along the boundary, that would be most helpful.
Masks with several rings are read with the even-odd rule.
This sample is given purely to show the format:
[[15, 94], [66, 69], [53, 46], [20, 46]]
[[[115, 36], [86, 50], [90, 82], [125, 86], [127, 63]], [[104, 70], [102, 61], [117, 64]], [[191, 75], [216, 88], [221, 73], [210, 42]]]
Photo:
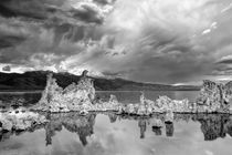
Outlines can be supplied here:
[[[157, 136], [162, 135], [162, 128], [165, 127], [166, 136], [171, 137], [175, 134], [175, 123], [178, 122], [199, 122], [201, 132], [203, 133], [204, 141], [214, 141], [219, 137], [224, 138], [228, 135], [232, 136], [232, 116], [226, 114], [175, 114], [175, 123], [164, 123], [164, 127], [152, 126], [150, 122], [152, 120], [165, 121], [165, 116], [161, 114], [155, 114], [152, 117], [140, 117], [129, 115], [116, 115], [115, 113], [103, 113], [107, 115], [110, 123], [116, 123], [122, 120], [133, 120], [138, 123], [140, 131], [140, 138], [146, 138], [146, 131], [148, 127]], [[94, 125], [97, 113], [91, 113], [86, 116], [81, 116], [77, 113], [62, 113], [62, 114], [44, 114], [50, 122], [44, 126], [34, 126], [28, 132], [34, 132], [39, 128], [45, 130], [45, 144], [52, 145], [54, 135], [63, 130], [67, 130], [71, 133], [76, 133], [83, 146], [87, 145], [87, 137], [94, 134]], [[1, 133], [0, 140], [10, 138], [11, 135], [21, 135], [22, 133]]]

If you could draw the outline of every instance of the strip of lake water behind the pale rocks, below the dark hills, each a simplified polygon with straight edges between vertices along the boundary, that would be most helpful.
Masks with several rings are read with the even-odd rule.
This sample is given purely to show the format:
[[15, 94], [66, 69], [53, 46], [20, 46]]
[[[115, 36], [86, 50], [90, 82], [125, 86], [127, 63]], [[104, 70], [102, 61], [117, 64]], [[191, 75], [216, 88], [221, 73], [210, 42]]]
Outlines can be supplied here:
[[[129, 92], [129, 91], [99, 91], [96, 92], [96, 96], [108, 101], [109, 95], [114, 94], [119, 102], [128, 103], [138, 103], [140, 97], [140, 92]], [[145, 96], [149, 100], [156, 100], [159, 95], [167, 95], [170, 99], [182, 100], [188, 99], [190, 102], [194, 102], [199, 92], [198, 91], [148, 91], [145, 92]], [[22, 103], [24, 106], [33, 105], [41, 97], [39, 92], [0, 92], [0, 101], [4, 105], [9, 105], [15, 102]]]

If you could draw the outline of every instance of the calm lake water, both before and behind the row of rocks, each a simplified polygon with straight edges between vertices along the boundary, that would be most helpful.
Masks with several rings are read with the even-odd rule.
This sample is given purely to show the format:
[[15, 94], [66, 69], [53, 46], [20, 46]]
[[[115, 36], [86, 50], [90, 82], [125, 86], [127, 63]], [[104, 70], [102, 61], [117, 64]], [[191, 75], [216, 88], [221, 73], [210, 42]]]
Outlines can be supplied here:
[[[98, 92], [108, 97], [113, 92]], [[115, 92], [120, 102], [136, 103], [139, 92]], [[198, 92], [146, 92], [148, 99], [168, 95], [193, 101]], [[33, 104], [40, 94], [1, 94], [10, 100]], [[13, 102], [14, 102], [13, 101]], [[118, 116], [114, 113], [44, 114], [45, 126], [23, 133], [3, 133], [0, 155], [230, 155], [232, 116], [176, 114], [173, 124], [152, 127], [152, 117]]]

